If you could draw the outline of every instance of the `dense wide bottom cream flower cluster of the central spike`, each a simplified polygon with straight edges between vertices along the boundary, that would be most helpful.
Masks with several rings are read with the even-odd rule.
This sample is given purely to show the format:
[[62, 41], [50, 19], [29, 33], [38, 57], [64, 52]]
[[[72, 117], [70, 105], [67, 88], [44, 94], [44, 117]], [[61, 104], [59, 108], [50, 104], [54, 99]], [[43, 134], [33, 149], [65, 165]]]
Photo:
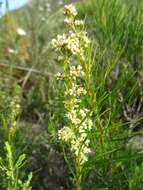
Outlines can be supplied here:
[[59, 139], [70, 142], [71, 151], [80, 165], [88, 161], [88, 154], [91, 152], [88, 132], [91, 130], [93, 123], [87, 116], [88, 113], [89, 110], [79, 108], [69, 111], [66, 116], [73, 127], [63, 127], [58, 132]]

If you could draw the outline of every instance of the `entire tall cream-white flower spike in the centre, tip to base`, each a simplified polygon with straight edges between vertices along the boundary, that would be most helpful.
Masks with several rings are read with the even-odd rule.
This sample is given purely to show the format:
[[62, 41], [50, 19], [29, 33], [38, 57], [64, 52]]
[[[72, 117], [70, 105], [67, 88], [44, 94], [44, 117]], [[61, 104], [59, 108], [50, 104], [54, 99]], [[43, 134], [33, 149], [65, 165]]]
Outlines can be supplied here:
[[[69, 126], [65, 126], [58, 131], [60, 140], [69, 142], [71, 151], [76, 162], [83, 165], [88, 160], [88, 154], [91, 152], [90, 140], [88, 134], [92, 129], [92, 120], [90, 110], [84, 107], [82, 98], [87, 94], [82, 85], [85, 72], [82, 61], [85, 60], [84, 53], [90, 41], [85, 31], [80, 31], [79, 26], [83, 21], [76, 20], [77, 11], [73, 5], [66, 5], [64, 8], [66, 16], [65, 22], [71, 27], [69, 34], [58, 35], [52, 40], [52, 45], [56, 51], [68, 55], [67, 68], [64, 73], [57, 73], [58, 80], [68, 81], [64, 93], [64, 106], [67, 110], [65, 115], [69, 121]], [[70, 56], [80, 58], [78, 65], [70, 63]], [[63, 60], [64, 61], [64, 60]]]

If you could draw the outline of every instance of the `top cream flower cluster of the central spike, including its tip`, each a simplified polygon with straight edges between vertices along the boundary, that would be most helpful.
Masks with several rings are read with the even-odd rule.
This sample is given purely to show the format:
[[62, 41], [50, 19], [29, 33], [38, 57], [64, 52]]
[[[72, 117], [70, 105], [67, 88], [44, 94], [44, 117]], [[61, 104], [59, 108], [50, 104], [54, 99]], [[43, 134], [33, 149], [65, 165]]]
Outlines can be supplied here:
[[84, 49], [88, 47], [90, 41], [85, 31], [77, 29], [84, 23], [82, 20], [75, 19], [77, 11], [73, 5], [66, 5], [64, 14], [66, 15], [64, 21], [70, 26], [71, 30], [68, 35], [57, 35], [57, 38], [52, 40], [52, 46], [57, 51], [62, 51], [63, 53], [66, 51], [69, 55], [79, 56], [82, 60], [85, 60]]

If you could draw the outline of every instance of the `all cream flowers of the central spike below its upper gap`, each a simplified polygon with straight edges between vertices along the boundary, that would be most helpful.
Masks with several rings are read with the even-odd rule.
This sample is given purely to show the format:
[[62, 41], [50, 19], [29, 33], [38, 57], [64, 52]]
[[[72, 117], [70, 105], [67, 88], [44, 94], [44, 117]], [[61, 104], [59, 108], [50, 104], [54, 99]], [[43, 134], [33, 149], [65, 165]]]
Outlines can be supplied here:
[[[78, 65], [69, 67], [69, 78], [72, 81], [71, 88], [65, 91], [65, 108], [68, 110], [66, 117], [71, 126], [63, 127], [59, 130], [59, 139], [70, 142], [71, 151], [78, 159], [80, 165], [88, 160], [88, 154], [91, 152], [88, 139], [88, 132], [92, 129], [92, 120], [90, 110], [80, 107], [80, 95], [87, 92], [82, 85], [77, 84], [79, 77], [84, 77], [82, 66]], [[73, 77], [74, 76], [74, 77]], [[70, 98], [69, 98], [70, 96]]]

